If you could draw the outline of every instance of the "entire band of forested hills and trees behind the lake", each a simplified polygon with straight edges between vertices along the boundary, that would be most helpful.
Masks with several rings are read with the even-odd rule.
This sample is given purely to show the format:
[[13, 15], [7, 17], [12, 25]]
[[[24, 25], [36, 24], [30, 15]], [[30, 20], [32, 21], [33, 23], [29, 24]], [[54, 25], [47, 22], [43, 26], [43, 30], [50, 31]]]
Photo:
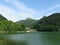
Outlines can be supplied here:
[[27, 18], [18, 22], [8, 21], [0, 14], [0, 31], [26, 31], [26, 27], [37, 29], [37, 31], [60, 30], [60, 13], [44, 16], [40, 20]]

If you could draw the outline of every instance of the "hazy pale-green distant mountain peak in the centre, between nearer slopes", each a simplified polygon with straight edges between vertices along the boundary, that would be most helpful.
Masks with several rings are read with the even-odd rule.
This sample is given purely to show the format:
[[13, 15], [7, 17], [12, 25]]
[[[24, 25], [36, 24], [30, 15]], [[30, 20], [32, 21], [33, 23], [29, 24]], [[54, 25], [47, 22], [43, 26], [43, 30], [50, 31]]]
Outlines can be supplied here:
[[25, 20], [20, 20], [20, 21], [17, 21], [16, 23], [18, 23], [18, 24], [24, 24], [25, 26], [30, 27], [36, 21], [37, 20], [32, 19], [32, 18], [26, 18]]

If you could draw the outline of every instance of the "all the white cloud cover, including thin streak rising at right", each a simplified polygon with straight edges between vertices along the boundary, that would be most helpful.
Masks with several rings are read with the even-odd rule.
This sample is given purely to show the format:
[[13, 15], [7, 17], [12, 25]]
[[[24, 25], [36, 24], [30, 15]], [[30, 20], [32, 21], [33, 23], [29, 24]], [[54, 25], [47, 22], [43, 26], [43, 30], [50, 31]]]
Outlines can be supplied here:
[[[6, 4], [0, 3], [0, 14], [2, 14], [4, 17], [6, 17], [8, 20], [12, 21], [18, 21], [25, 19], [27, 17], [31, 17], [34, 19], [40, 19], [44, 15], [51, 14], [51, 10], [56, 9], [60, 7], [60, 3], [46, 9], [41, 13], [41, 11], [36, 11], [33, 8], [28, 8], [23, 2], [19, 0], [4, 0]], [[12, 4], [13, 6], [8, 6], [9, 4]]]

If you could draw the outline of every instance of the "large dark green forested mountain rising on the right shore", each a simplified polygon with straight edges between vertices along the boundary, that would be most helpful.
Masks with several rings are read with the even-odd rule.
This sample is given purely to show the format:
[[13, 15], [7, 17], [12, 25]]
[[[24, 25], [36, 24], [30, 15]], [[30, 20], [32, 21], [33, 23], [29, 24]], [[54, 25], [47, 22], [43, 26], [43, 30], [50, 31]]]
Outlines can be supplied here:
[[44, 16], [33, 26], [37, 31], [58, 31], [60, 30], [60, 13]]

